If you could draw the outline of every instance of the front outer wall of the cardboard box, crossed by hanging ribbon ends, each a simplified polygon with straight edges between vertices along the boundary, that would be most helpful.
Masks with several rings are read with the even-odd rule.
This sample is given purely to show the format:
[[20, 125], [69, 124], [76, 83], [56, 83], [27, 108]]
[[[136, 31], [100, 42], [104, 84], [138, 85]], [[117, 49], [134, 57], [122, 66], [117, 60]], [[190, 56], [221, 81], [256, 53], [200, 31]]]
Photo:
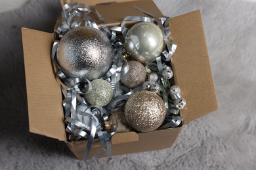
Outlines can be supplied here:
[[[171, 148], [171, 146], [173, 146], [173, 144], [175, 143], [175, 140], [177, 139], [179, 133], [181, 132], [181, 129], [182, 127], [177, 127], [163, 129], [159, 131], [150, 131], [147, 133], [117, 133], [112, 137], [112, 139], [116, 136], [116, 139], [118, 139], [118, 141], [120, 141], [120, 139], [122, 139], [123, 137], [125, 139], [129, 139], [129, 141], [127, 141], [126, 143], [112, 142], [112, 156]], [[125, 135], [127, 135], [128, 137], [125, 137]], [[66, 144], [75, 154], [77, 159], [83, 160], [87, 141], [66, 141]], [[103, 146], [102, 144], [100, 144], [100, 141], [98, 139], [95, 139], [95, 141], [93, 141], [93, 145], [91, 146], [89, 158], [92, 158], [95, 154], [100, 152], [102, 148]], [[106, 154], [102, 155], [102, 157], [106, 157]]]

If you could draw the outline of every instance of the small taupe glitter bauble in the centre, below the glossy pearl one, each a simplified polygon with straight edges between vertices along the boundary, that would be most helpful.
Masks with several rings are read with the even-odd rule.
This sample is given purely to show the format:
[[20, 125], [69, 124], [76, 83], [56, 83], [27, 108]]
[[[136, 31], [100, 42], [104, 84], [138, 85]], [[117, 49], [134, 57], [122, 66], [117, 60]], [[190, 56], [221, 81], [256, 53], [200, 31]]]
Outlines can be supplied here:
[[121, 78], [121, 83], [127, 88], [136, 88], [143, 84], [146, 79], [146, 68], [139, 61], [128, 62], [129, 70]]

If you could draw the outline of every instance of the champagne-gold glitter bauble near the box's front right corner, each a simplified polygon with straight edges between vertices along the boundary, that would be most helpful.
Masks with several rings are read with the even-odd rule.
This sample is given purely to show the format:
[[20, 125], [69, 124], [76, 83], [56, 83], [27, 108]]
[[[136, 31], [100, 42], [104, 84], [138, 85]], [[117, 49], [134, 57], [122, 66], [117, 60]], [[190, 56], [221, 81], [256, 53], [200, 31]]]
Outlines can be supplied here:
[[137, 131], [154, 131], [163, 123], [165, 114], [165, 104], [154, 92], [134, 93], [125, 104], [125, 118]]

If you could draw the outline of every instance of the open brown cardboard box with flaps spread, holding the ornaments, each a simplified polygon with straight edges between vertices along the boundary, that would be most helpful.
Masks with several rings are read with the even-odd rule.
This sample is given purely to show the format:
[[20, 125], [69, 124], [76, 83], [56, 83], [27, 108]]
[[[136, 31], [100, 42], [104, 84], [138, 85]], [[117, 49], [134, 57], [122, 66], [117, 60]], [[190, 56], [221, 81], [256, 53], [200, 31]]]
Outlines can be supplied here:
[[[69, 2], [69, 1], [68, 1]], [[96, 5], [108, 1], [86, 1], [79, 3], [93, 5], [100, 12], [107, 25], [119, 25], [125, 16], [146, 16], [132, 6], [162, 16], [153, 1], [119, 0], [108, 5]], [[62, 1], [62, 4], [66, 1]], [[170, 19], [171, 39], [177, 42], [172, 65], [176, 84], [186, 99], [186, 107], [181, 115], [182, 125], [188, 124], [213, 110], [218, 109], [207, 46], [203, 33], [199, 10], [175, 16]], [[62, 93], [56, 82], [51, 65], [51, 48], [54, 33], [45, 33], [22, 28], [26, 87], [28, 95], [28, 114], [30, 131], [60, 141], [65, 141], [75, 156], [83, 159], [87, 141], [68, 142], [64, 127]], [[112, 139], [112, 155], [128, 154], [169, 148], [178, 137], [181, 127], [161, 129], [148, 133], [117, 133]], [[95, 139], [89, 157], [102, 149]]]

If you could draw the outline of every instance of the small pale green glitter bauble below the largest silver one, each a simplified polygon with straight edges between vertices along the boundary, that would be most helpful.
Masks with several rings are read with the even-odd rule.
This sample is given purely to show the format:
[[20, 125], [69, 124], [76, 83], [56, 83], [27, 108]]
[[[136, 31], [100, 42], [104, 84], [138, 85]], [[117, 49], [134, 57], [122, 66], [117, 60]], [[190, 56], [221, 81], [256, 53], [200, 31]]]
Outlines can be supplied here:
[[99, 105], [101, 107], [108, 105], [113, 97], [113, 90], [110, 83], [106, 80], [95, 79], [91, 84], [93, 88], [90, 93], [85, 94], [85, 99], [91, 105]]

